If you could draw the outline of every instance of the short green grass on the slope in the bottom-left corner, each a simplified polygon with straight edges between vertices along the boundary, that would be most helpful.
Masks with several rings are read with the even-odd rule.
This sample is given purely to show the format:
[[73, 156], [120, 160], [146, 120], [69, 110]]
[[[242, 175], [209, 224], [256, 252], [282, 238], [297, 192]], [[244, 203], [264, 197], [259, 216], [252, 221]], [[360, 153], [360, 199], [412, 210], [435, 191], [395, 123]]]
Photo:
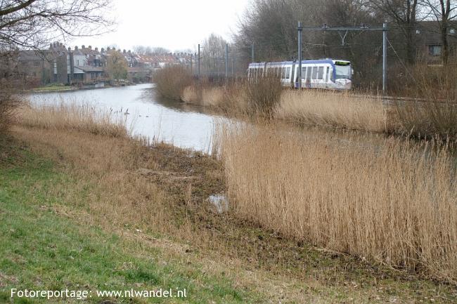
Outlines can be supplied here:
[[[202, 265], [160, 248], [77, 223], [56, 209], [72, 180], [26, 147], [0, 145], [0, 303], [100, 303], [98, 290], [186, 289], [187, 298], [113, 299], [113, 303], [262, 303]], [[2, 147], [3, 146], [3, 147]], [[12, 153], [14, 151], [14, 153]], [[11, 289], [93, 291], [86, 301], [11, 298]]]

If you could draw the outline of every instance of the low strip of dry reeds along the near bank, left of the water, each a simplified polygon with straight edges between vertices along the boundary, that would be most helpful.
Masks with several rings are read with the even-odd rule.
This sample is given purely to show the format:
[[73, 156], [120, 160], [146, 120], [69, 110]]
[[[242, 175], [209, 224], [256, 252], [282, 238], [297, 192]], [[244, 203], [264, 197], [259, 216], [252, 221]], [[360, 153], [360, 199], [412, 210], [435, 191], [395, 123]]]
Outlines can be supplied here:
[[24, 105], [18, 111], [22, 126], [49, 130], [80, 131], [94, 135], [127, 138], [126, 121], [95, 107], [58, 103], [54, 105]]

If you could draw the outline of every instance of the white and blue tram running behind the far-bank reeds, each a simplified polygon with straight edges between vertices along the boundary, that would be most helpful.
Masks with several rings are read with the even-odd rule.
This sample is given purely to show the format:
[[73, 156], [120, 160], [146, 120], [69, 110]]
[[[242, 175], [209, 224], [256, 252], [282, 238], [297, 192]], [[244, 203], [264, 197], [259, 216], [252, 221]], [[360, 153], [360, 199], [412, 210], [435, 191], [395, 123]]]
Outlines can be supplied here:
[[[247, 77], [273, 75], [281, 79], [283, 86], [298, 88], [299, 63], [254, 62], [247, 69]], [[352, 85], [352, 65], [347, 60], [302, 60], [302, 88], [328, 88], [349, 90]]]

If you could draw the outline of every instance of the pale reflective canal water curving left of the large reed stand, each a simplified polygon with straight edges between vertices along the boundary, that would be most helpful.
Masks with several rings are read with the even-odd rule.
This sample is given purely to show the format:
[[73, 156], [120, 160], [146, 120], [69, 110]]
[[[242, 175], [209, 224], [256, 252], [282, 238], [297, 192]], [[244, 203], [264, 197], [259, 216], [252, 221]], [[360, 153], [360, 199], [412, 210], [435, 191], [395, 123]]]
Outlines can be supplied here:
[[203, 107], [160, 98], [153, 84], [34, 93], [30, 95], [30, 101], [38, 104], [93, 105], [99, 110], [125, 117], [132, 135], [202, 152], [210, 152], [214, 124], [228, 121], [225, 117], [205, 112]]

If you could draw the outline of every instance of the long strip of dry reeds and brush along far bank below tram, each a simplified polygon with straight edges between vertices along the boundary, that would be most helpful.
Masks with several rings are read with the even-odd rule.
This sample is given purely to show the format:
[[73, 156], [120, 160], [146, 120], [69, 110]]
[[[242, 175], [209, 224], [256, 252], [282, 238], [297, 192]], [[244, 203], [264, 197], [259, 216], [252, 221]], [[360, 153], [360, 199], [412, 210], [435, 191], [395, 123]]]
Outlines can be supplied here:
[[354, 97], [351, 93], [281, 90], [273, 79], [257, 82], [238, 81], [225, 87], [188, 86], [182, 100], [231, 113], [262, 116], [266, 111], [271, 118], [307, 126], [371, 132], [390, 132], [399, 126], [392, 110], [371, 95]]

